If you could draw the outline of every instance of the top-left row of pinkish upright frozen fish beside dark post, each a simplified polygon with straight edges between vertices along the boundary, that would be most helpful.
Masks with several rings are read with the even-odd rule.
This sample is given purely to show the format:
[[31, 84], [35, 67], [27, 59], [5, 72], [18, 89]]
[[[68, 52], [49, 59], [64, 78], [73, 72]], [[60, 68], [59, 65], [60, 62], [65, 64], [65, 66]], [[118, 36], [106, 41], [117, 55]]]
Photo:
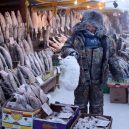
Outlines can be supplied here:
[[15, 15], [14, 11], [0, 13], [0, 43], [9, 43], [10, 37], [16, 41], [23, 40], [27, 37], [26, 25], [22, 20], [20, 11]]

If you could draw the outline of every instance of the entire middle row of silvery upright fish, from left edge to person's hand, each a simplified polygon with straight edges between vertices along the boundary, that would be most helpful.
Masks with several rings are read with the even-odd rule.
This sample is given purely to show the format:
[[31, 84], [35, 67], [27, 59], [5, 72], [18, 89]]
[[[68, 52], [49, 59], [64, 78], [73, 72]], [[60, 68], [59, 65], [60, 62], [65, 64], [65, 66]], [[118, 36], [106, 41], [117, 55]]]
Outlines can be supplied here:
[[[29, 48], [29, 47], [28, 47]], [[40, 52], [28, 53], [16, 43], [11, 49], [0, 46], [0, 70], [13, 69], [13, 63], [26, 65], [38, 76], [46, 71], [52, 71], [53, 52], [47, 48]]]

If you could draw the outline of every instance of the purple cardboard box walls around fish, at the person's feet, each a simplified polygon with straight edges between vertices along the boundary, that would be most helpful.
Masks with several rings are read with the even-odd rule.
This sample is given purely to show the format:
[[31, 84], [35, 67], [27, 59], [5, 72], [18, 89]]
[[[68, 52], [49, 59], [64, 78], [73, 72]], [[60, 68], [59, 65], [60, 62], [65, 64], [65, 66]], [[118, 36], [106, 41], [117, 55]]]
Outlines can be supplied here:
[[[60, 104], [51, 104], [51, 109], [55, 112], [59, 112], [61, 110], [61, 107], [65, 105]], [[40, 118], [34, 118], [34, 126], [33, 129], [69, 129], [73, 122], [77, 119], [79, 116], [79, 107], [78, 106], [71, 106], [72, 109], [75, 111], [74, 117], [70, 118], [67, 124], [61, 124], [61, 123], [53, 123], [53, 122], [47, 122]], [[45, 116], [44, 116], [45, 118]]]

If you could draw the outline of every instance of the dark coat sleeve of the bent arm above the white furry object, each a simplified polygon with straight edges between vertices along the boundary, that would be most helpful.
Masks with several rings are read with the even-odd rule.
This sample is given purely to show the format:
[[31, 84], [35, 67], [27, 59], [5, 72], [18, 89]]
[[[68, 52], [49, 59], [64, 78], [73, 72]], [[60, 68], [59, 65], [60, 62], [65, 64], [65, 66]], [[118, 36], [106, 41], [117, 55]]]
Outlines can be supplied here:
[[68, 55], [71, 56], [75, 56], [76, 58], [78, 58], [79, 54], [78, 52], [75, 50], [75, 35], [72, 35], [66, 42], [65, 45], [63, 46], [62, 50], [61, 50], [61, 55], [62, 57], [66, 57]]

